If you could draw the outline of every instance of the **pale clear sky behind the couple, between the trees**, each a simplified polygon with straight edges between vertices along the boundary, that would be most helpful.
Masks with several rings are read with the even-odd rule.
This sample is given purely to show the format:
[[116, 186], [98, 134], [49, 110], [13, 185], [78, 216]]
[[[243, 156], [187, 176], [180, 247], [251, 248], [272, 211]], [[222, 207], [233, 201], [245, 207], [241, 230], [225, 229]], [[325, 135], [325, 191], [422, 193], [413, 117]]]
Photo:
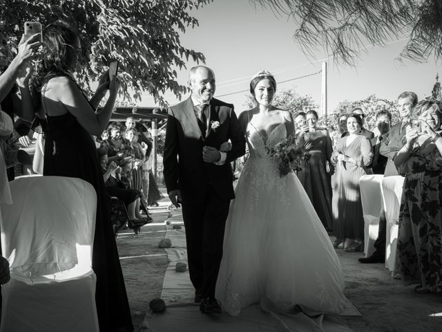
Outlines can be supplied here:
[[[361, 100], [369, 95], [396, 100], [403, 91], [414, 91], [419, 99], [430, 95], [441, 63], [399, 63], [396, 58], [407, 40], [403, 36], [387, 41], [387, 46], [373, 46], [361, 53], [356, 66], [338, 66], [322, 51], [307, 56], [294, 41], [296, 25], [271, 10], [255, 8], [249, 0], [215, 0], [192, 10], [199, 26], [186, 30], [181, 44], [202, 52], [206, 66], [215, 72], [215, 98], [246, 109], [244, 102], [251, 77], [266, 69], [276, 82], [318, 73], [327, 62], [327, 109], [332, 113], [339, 102]], [[187, 69], [195, 66], [189, 61]], [[178, 71], [177, 81], [186, 84], [188, 71]], [[321, 98], [321, 74], [278, 84], [277, 90], [294, 88], [300, 95], [311, 95], [318, 106]], [[235, 94], [230, 94], [235, 93]], [[229, 94], [229, 95], [227, 95]], [[176, 104], [173, 93], [166, 93], [169, 104]], [[183, 97], [184, 100], [186, 96]], [[150, 95], [143, 95], [142, 106], [155, 106]]]

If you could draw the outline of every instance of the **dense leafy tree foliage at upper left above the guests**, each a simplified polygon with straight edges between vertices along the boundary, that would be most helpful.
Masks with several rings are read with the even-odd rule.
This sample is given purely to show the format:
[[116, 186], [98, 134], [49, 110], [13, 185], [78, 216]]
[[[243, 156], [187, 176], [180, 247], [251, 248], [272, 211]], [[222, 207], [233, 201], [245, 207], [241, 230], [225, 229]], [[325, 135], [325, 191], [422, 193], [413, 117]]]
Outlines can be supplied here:
[[[175, 68], [186, 62], [204, 63], [204, 55], [180, 44], [180, 33], [198, 26], [189, 11], [213, 0], [1, 0], [0, 26], [19, 39], [25, 21], [42, 26], [62, 19], [77, 32], [82, 44], [77, 79], [86, 88], [97, 80], [112, 59], [119, 61], [124, 97], [141, 99], [148, 91], [155, 102], [167, 104], [162, 94], [177, 98], [188, 91], [176, 81]], [[133, 93], [129, 93], [133, 91]]]

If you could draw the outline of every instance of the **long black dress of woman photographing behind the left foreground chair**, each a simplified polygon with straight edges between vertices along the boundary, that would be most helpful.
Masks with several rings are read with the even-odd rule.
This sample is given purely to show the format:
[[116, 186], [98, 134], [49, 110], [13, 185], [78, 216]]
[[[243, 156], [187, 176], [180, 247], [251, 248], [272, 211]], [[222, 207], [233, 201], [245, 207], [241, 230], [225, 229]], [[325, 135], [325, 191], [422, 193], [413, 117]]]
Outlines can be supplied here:
[[99, 329], [102, 332], [133, 331], [126, 286], [111, 226], [109, 196], [104, 187], [95, 143], [70, 113], [48, 116], [47, 120], [43, 174], [82, 178], [97, 191], [92, 267], [97, 275], [95, 299]]

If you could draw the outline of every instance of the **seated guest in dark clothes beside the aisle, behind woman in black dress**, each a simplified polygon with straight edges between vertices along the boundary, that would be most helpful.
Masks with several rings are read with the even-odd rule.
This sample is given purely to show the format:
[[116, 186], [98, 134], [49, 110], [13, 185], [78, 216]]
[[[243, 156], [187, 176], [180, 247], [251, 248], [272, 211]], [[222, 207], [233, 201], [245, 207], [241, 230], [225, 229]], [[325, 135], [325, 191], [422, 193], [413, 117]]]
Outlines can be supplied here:
[[[106, 149], [97, 149], [97, 154], [99, 158], [99, 163], [102, 167], [104, 184], [106, 186], [106, 191], [109, 195], [117, 197], [124, 202], [129, 217], [129, 227], [138, 228], [140, 225], [145, 225], [146, 223], [151, 223], [152, 218], [150, 216], [142, 216], [140, 214], [140, 198], [142, 197], [139, 190], [134, 190], [124, 187], [121, 181], [112, 176], [112, 172], [117, 169], [117, 164], [111, 162], [108, 165], [108, 155]], [[133, 227], [131, 227], [133, 225]]]

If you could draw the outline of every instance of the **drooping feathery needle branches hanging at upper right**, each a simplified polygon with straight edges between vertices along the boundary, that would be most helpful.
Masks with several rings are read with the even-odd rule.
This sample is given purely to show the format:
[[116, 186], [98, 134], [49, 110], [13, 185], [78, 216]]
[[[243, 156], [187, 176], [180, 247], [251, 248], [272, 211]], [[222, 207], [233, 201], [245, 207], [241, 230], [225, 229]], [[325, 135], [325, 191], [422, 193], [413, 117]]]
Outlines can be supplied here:
[[442, 59], [441, 0], [249, 0], [296, 24], [294, 39], [310, 55], [318, 47], [354, 64], [365, 44], [409, 37], [399, 59]]

